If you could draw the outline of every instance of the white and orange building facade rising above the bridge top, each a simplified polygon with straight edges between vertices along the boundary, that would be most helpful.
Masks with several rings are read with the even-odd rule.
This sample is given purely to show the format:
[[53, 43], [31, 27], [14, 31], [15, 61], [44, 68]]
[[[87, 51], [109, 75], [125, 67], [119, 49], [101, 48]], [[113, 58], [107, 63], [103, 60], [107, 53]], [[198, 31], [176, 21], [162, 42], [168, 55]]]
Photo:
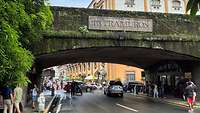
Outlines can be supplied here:
[[[88, 8], [186, 14], [189, 0], [92, 0]], [[198, 11], [197, 15], [200, 15]]]

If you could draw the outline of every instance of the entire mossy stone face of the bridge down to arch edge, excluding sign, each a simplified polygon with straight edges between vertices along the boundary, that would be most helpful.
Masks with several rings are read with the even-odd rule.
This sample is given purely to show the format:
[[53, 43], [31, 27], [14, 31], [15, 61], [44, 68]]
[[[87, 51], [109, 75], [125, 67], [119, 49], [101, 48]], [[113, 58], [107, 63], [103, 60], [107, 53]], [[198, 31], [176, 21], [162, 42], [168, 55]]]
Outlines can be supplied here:
[[[135, 47], [169, 50], [200, 58], [200, 16], [64, 7], [52, 7], [52, 11], [54, 27], [35, 45], [35, 55], [77, 48]], [[89, 16], [152, 19], [153, 30], [89, 29], [89, 32], [80, 32], [80, 27], [88, 26]]]

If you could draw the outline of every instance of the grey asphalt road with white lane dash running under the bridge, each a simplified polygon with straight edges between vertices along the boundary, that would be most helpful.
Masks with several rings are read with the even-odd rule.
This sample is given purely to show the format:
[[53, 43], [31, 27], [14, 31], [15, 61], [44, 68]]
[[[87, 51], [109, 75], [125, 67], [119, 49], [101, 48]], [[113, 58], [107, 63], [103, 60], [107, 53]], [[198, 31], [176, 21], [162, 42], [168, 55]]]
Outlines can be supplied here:
[[[71, 103], [71, 104], [70, 104]], [[142, 96], [125, 94], [107, 97], [102, 91], [84, 93], [62, 101], [60, 113], [187, 113], [186, 108], [177, 107]], [[200, 111], [194, 110], [193, 113]]]

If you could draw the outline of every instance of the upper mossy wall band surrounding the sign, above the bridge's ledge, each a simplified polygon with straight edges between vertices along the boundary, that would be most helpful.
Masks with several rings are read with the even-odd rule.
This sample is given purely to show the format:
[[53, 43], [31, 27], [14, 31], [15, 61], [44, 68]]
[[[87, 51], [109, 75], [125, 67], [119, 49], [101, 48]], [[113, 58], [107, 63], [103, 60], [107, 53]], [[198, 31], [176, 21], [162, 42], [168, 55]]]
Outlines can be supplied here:
[[[54, 31], [77, 31], [82, 26], [89, 25], [89, 16], [115, 17], [115, 18], [134, 18], [134, 19], [152, 19], [152, 32], [130, 32], [130, 31], [109, 31], [125, 32], [129, 34], [153, 34], [153, 35], [172, 35], [187, 34], [200, 35], [200, 16], [191, 18], [188, 15], [162, 14], [162, 13], [144, 13], [131, 11], [112, 11], [84, 8], [64, 8], [52, 7], [54, 14]], [[98, 33], [107, 33], [106, 30], [89, 30]]]

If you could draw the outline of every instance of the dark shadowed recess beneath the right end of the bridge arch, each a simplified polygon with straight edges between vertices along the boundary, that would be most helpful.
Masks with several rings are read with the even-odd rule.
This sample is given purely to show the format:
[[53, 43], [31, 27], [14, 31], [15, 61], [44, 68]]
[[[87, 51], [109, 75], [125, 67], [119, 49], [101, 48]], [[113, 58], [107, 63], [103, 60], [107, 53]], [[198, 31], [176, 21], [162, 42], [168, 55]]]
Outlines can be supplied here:
[[184, 73], [175, 62], [165, 62], [154, 67], [151, 72], [151, 82], [158, 85], [160, 96], [175, 96], [182, 98], [185, 83], [191, 78]]

